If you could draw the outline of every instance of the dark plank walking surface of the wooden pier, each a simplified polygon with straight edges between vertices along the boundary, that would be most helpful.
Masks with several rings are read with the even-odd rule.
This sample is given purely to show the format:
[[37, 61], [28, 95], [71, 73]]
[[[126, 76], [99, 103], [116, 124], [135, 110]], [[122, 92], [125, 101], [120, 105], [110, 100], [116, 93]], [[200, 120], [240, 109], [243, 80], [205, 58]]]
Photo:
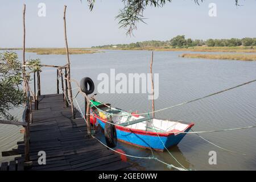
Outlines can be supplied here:
[[[29, 170], [123, 170], [131, 164], [120, 155], [102, 146], [96, 139], [86, 137], [86, 123], [79, 112], [72, 118], [70, 107], [65, 107], [62, 94], [39, 96], [39, 109], [32, 110], [30, 125]], [[46, 165], [38, 164], [39, 151], [46, 152]], [[24, 142], [18, 142], [21, 157], [2, 163], [1, 170], [23, 170]]]

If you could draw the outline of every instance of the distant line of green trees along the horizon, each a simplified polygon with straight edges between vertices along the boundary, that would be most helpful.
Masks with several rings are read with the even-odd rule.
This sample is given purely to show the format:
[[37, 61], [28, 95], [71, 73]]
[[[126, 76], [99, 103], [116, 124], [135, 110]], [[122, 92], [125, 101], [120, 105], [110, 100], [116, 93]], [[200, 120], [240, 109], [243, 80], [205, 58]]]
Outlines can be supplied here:
[[188, 48], [195, 46], [208, 47], [236, 47], [236, 46], [256, 46], [256, 38], [242, 38], [242, 39], [208, 39], [208, 40], [192, 40], [185, 39], [185, 35], [178, 35], [167, 41], [149, 40], [130, 44], [110, 44], [104, 46], [93, 46], [92, 48], [144, 48], [144, 47], [172, 47], [172, 48]]

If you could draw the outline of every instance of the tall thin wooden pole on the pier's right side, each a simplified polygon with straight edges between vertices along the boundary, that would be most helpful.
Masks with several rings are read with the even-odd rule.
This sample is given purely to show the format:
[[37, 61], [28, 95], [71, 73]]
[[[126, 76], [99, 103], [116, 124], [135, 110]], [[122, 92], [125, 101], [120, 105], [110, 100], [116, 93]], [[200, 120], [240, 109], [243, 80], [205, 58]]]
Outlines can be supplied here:
[[66, 9], [67, 6], [64, 6], [64, 16], [63, 16], [63, 20], [64, 20], [64, 38], [65, 38], [65, 44], [66, 44], [66, 53], [67, 53], [67, 63], [68, 63], [68, 95], [69, 95], [69, 101], [71, 102], [71, 111], [72, 111], [72, 115], [73, 118], [75, 118], [75, 113], [74, 113], [74, 106], [73, 106], [73, 96], [72, 96], [72, 88], [71, 88], [71, 71], [70, 71], [70, 61], [69, 61], [69, 53], [68, 53], [68, 40], [67, 40], [67, 27], [66, 27]]

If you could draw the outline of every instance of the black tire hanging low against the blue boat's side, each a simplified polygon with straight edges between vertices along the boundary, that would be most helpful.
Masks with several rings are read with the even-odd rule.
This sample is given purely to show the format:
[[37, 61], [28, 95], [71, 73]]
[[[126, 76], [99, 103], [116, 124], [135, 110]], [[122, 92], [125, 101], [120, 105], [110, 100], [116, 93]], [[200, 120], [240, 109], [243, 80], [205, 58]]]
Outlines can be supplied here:
[[[113, 121], [109, 122], [113, 123]], [[117, 131], [115, 130], [115, 126], [110, 123], [105, 123], [104, 134], [107, 146], [110, 148], [114, 148], [115, 146], [117, 146]]]

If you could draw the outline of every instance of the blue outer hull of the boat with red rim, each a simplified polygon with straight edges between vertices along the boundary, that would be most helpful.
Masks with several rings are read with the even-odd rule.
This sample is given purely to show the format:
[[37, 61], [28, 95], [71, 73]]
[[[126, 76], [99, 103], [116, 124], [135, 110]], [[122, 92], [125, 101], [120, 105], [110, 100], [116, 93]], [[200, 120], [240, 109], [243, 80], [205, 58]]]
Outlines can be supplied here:
[[[94, 118], [94, 122], [98, 122], [102, 129], [105, 128], [104, 119]], [[192, 125], [189, 125], [186, 132], [191, 129]], [[117, 131], [117, 139], [121, 142], [131, 144], [133, 146], [141, 147], [141, 148], [152, 148], [154, 150], [164, 151], [165, 147], [176, 146], [181, 139], [185, 136], [184, 133], [180, 134], [161, 134], [155, 132], [147, 132], [146, 131], [138, 131], [134, 129], [129, 129], [127, 127], [115, 126]], [[165, 147], [164, 147], [165, 146]]]

